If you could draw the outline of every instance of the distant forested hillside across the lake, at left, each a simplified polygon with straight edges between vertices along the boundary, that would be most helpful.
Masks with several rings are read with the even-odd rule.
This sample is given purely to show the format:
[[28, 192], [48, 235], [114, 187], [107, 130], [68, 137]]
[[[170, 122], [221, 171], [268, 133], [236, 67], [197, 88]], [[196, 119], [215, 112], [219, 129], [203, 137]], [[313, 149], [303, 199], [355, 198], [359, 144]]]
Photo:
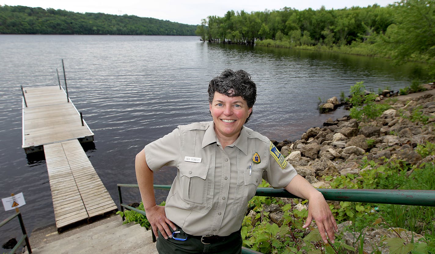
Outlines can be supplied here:
[[0, 6], [3, 34], [195, 35], [196, 25], [153, 18]]

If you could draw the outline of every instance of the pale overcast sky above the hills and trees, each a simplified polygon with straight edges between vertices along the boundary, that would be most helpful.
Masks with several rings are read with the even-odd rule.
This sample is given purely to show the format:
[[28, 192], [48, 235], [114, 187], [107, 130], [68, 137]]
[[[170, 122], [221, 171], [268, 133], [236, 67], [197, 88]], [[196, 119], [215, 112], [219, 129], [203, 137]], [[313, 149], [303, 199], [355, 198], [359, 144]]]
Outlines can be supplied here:
[[385, 7], [395, 0], [0, 0], [0, 5], [22, 5], [69, 10], [74, 12], [136, 15], [159, 20], [197, 25], [210, 15], [224, 16], [228, 10], [279, 10], [283, 7], [305, 10], [367, 7], [377, 3]]

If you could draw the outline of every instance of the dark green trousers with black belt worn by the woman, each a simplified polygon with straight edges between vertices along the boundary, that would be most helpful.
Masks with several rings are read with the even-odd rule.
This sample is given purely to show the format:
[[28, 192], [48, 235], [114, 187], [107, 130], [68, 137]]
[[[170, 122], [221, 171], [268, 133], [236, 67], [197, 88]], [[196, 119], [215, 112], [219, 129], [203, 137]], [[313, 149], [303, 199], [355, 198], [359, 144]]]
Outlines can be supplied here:
[[159, 254], [241, 254], [242, 252], [240, 231], [230, 234], [224, 241], [211, 244], [203, 244], [201, 239], [184, 233], [179, 227], [177, 227], [176, 231], [181, 231], [180, 234], [176, 234], [177, 238], [187, 238], [187, 240], [165, 239], [158, 231], [159, 237], [157, 238], [156, 247]]

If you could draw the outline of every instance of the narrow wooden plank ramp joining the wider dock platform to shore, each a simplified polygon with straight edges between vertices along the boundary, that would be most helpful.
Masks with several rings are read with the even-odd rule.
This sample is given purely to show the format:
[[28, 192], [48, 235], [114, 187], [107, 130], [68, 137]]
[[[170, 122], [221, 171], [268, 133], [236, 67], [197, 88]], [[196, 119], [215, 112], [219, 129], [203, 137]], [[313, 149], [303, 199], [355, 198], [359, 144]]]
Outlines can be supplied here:
[[44, 145], [56, 227], [117, 209], [77, 139]]

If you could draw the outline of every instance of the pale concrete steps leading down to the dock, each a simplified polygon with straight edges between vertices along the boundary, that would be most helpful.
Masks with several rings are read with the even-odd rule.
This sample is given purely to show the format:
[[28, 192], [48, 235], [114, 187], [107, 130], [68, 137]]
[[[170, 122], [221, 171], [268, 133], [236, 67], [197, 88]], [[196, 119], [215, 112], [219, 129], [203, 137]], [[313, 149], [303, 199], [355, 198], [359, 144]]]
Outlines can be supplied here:
[[[59, 235], [62, 234], [65, 233]], [[152, 243], [151, 231], [147, 231], [139, 224], [123, 225], [120, 218], [110, 219], [94, 226], [87, 225], [80, 231], [66, 234], [63, 238], [36, 247], [33, 247], [32, 239], [33, 236], [30, 238], [30, 246], [34, 254], [157, 254], [155, 243]], [[145, 252], [136, 252], [139, 249]]]

